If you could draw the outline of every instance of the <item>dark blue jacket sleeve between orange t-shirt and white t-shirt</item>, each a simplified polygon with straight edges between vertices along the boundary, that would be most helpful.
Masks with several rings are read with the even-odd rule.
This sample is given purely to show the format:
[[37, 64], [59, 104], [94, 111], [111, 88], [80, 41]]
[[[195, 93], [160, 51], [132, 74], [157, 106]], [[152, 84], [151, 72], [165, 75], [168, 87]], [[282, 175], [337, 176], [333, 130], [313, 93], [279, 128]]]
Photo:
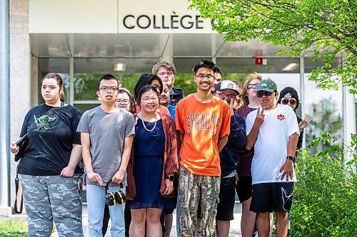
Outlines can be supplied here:
[[223, 147], [219, 157], [221, 158], [221, 177], [226, 177], [234, 172], [239, 163], [237, 149], [241, 149], [246, 143], [246, 120], [237, 115], [231, 116], [231, 132], [228, 136], [228, 142]]

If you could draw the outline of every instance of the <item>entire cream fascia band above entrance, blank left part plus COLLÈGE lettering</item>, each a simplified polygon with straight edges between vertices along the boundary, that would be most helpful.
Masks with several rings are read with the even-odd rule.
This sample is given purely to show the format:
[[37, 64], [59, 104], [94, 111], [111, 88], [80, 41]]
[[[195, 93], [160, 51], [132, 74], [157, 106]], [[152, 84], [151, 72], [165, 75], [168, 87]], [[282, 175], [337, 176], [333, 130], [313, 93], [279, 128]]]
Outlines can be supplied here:
[[188, 0], [31, 0], [29, 33], [212, 33], [211, 21], [188, 6]]

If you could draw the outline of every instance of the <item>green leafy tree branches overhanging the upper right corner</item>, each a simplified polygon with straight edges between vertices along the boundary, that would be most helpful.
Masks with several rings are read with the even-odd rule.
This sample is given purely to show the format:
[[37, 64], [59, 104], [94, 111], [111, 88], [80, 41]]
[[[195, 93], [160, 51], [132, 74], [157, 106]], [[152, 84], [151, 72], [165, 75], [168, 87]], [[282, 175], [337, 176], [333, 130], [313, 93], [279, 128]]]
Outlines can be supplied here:
[[[278, 54], [296, 56], [308, 50], [323, 62], [311, 72], [318, 88], [343, 85], [357, 92], [356, 0], [191, 0], [226, 41], [260, 41], [285, 46]], [[342, 68], [331, 68], [342, 53]], [[337, 77], [335, 77], [337, 75]], [[338, 78], [338, 79], [336, 79]]]

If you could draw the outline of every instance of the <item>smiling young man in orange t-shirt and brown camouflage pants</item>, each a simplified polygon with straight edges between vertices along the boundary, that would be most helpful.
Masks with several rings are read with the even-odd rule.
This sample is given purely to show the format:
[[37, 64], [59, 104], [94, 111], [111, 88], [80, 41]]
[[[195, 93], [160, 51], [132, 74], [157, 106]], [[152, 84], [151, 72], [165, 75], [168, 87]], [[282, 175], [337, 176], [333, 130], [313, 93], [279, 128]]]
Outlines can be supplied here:
[[197, 92], [178, 102], [176, 127], [181, 142], [178, 181], [180, 236], [193, 236], [201, 201], [199, 236], [216, 236], [221, 167], [219, 152], [228, 140], [231, 109], [211, 94], [217, 67], [210, 60], [193, 66]]

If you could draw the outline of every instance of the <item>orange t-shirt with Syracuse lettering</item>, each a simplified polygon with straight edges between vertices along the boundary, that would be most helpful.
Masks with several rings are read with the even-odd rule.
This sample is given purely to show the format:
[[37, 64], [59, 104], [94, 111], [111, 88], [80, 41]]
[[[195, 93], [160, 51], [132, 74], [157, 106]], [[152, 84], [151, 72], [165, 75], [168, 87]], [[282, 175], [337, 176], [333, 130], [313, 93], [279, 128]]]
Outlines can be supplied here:
[[194, 95], [180, 100], [176, 107], [176, 127], [183, 134], [180, 164], [188, 172], [205, 176], [221, 176], [218, 138], [229, 135], [231, 108], [214, 97], [199, 102]]

